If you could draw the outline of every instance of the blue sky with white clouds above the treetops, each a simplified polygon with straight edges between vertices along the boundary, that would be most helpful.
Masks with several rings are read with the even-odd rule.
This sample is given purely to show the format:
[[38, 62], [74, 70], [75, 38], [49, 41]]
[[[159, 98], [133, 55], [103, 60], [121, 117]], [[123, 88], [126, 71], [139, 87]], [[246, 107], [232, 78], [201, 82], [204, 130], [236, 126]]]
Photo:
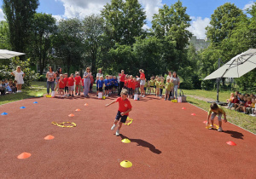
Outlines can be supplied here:
[[[163, 4], [171, 6], [177, 0], [138, 0], [143, 5], [147, 15], [147, 24], [144, 29], [151, 27], [151, 20], [154, 14], [158, 13]], [[38, 13], [52, 14], [57, 20], [62, 18], [79, 17], [84, 18], [90, 14], [100, 14], [103, 6], [111, 0], [39, 0]], [[206, 38], [206, 26], [209, 26], [211, 14], [218, 6], [224, 3], [235, 3], [239, 9], [250, 8], [252, 0], [181, 0], [183, 7], [187, 7], [187, 14], [190, 15], [189, 31], [197, 38]], [[0, 0], [0, 20], [4, 20], [3, 0]]]

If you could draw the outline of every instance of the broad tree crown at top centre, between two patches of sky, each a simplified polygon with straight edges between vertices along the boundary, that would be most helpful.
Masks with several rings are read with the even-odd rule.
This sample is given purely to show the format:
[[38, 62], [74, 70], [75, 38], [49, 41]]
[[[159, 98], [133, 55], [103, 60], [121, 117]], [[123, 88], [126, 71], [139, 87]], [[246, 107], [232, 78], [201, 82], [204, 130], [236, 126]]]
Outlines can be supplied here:
[[143, 34], [146, 15], [137, 0], [112, 0], [102, 9], [102, 17], [111, 28], [108, 37], [113, 44], [132, 45]]

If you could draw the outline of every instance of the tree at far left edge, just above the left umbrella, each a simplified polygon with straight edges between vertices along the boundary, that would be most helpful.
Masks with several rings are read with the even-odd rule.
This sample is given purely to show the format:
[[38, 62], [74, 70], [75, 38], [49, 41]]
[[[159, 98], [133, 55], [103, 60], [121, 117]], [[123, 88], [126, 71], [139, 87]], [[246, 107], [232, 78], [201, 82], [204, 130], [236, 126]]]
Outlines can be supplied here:
[[9, 26], [5, 20], [0, 21], [0, 49], [11, 49], [9, 43]]

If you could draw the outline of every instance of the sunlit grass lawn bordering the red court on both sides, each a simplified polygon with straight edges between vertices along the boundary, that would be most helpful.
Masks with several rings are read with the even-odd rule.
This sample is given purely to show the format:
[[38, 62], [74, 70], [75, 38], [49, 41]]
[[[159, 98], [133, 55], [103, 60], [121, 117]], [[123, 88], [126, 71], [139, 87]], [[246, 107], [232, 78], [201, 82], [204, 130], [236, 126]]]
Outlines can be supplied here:
[[[93, 85], [93, 90], [96, 91], [96, 85]], [[22, 90], [22, 93], [1, 95], [0, 105], [9, 103], [12, 101], [19, 101], [26, 98], [36, 97], [46, 93], [46, 82], [33, 82], [31, 88]], [[179, 91], [178, 91], [179, 92]], [[216, 91], [207, 90], [183, 90], [184, 95], [187, 95], [187, 101], [197, 107], [201, 107], [204, 110], [208, 110], [210, 103], [207, 101], [216, 101]], [[165, 94], [165, 91], [163, 91]], [[230, 97], [230, 91], [222, 91], [219, 93], [219, 101], [226, 101]], [[241, 126], [242, 128], [249, 130], [256, 134], [256, 118], [243, 113], [237, 113], [234, 110], [225, 110], [227, 113], [227, 119], [233, 124]], [[207, 116], [206, 116], [207, 119]]]

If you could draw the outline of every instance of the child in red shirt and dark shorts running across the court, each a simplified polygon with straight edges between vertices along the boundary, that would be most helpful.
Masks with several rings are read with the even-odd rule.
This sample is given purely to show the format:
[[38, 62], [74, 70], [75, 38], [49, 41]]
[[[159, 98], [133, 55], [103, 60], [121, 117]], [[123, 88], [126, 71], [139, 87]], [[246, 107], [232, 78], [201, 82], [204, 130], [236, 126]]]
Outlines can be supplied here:
[[119, 110], [114, 119], [113, 126], [111, 128], [111, 130], [114, 130], [114, 128], [116, 127], [116, 125], [119, 122], [119, 118], [121, 118], [121, 120], [119, 122], [119, 128], [118, 128], [118, 130], [116, 130], [116, 133], [115, 133], [116, 136], [119, 136], [119, 130], [121, 129], [122, 124], [126, 122], [129, 112], [131, 112], [131, 102], [128, 100], [127, 94], [128, 94], [127, 90], [125, 90], [125, 89], [122, 90], [121, 97], [117, 98], [116, 101], [112, 101], [111, 103], [106, 105], [106, 107], [108, 107], [115, 102], [119, 102]]

